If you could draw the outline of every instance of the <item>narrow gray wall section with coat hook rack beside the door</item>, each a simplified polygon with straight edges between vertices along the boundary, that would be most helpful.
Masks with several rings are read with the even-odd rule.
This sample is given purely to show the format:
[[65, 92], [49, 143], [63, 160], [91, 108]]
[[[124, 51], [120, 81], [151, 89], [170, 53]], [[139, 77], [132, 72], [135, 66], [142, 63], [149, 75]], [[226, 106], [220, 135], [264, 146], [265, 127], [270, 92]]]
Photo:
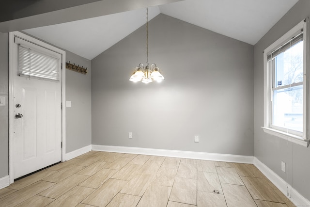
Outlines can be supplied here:
[[81, 74], [66, 70], [66, 152], [88, 146], [92, 143], [92, 93], [91, 61], [66, 51], [66, 62], [87, 67], [88, 73]]

